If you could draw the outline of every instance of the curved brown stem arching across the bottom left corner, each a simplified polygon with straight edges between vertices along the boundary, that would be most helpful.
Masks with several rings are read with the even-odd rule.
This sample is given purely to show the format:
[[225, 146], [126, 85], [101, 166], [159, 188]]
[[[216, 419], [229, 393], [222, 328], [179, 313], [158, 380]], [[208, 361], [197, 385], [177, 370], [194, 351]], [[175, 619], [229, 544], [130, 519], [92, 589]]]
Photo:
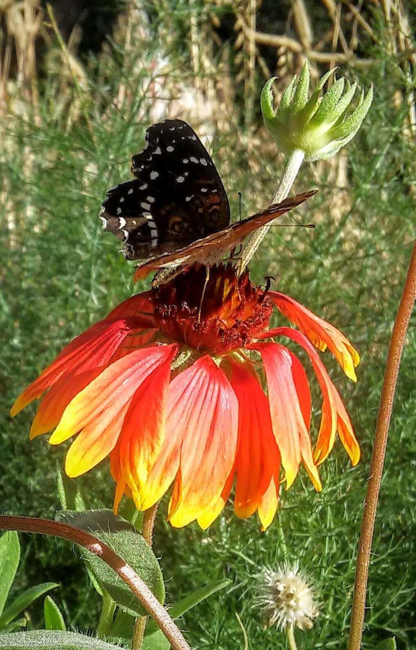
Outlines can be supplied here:
[[148, 586], [143, 582], [135, 571], [125, 564], [114, 551], [105, 545], [100, 539], [93, 537], [84, 530], [68, 526], [68, 524], [40, 519], [38, 517], [14, 517], [12, 515], [0, 515], [0, 530], [19, 530], [21, 532], [35, 532], [43, 535], [53, 535], [62, 539], [69, 539], [88, 551], [96, 554], [101, 560], [116, 571], [122, 580], [129, 586], [131, 591], [138, 597], [148, 614], [155, 619], [161, 628], [164, 636], [170, 641], [174, 650], [190, 650], [188, 643], [183, 638], [181, 631], [172, 621], [168, 612], [151, 593]]

